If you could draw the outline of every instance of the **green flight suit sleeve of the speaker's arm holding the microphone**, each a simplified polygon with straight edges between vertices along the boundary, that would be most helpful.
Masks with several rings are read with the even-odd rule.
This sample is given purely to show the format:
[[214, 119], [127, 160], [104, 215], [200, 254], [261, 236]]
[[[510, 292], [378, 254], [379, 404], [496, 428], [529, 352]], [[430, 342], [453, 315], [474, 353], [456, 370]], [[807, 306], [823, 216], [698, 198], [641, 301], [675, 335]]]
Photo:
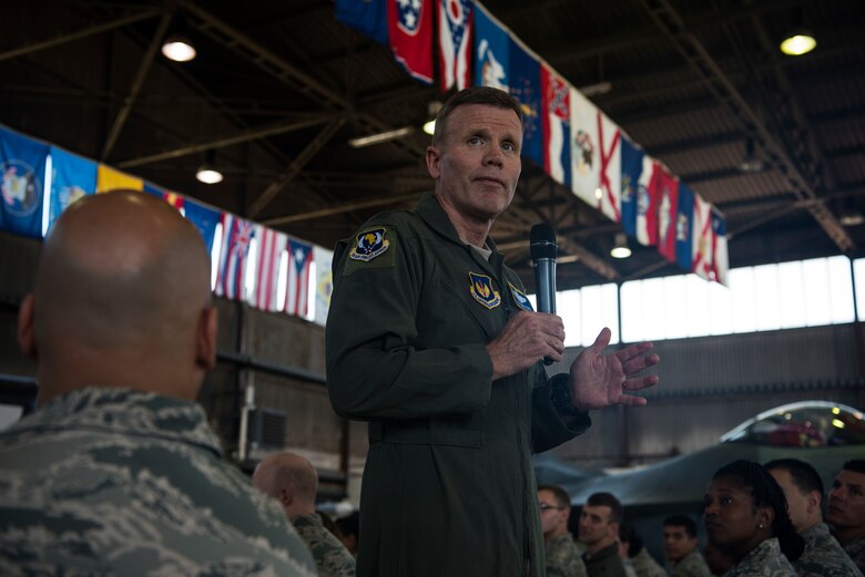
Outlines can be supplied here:
[[416, 347], [416, 316], [425, 305], [421, 293], [429, 264], [418, 240], [403, 238], [394, 227], [372, 230], [379, 229], [386, 230], [388, 247], [375, 258], [353, 258], [356, 247], [350, 243], [340, 243], [335, 254], [326, 327], [334, 410], [359, 420], [482, 410], [492, 384], [485, 343]]

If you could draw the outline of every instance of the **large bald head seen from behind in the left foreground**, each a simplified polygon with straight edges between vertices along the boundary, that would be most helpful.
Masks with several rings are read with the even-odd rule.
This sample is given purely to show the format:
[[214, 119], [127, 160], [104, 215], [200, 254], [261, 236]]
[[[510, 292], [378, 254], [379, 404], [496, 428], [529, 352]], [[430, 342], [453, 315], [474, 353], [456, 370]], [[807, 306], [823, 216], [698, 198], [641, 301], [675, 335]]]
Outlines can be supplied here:
[[213, 364], [202, 341], [215, 339], [210, 299], [201, 235], [167, 203], [134, 190], [74, 203], [45, 240], [21, 310], [42, 400], [88, 384], [194, 398]]

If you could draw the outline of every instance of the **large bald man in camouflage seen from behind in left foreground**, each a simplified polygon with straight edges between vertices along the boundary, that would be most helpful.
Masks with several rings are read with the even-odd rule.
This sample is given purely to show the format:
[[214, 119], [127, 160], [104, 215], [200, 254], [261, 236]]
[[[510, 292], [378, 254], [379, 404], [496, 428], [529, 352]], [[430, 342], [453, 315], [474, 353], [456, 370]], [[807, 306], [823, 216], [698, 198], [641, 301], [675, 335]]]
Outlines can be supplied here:
[[315, 574], [193, 402], [215, 361], [208, 262], [142, 193], [58, 220], [19, 315], [40, 409], [0, 434], [0, 574]]

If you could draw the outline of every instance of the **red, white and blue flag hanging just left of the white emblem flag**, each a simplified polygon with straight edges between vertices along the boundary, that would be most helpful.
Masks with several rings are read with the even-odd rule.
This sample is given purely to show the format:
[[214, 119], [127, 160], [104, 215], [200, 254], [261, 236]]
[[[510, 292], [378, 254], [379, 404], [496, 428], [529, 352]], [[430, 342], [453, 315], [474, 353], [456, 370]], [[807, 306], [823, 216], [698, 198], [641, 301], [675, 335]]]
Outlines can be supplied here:
[[570, 87], [549, 66], [541, 64], [541, 124], [543, 169], [557, 183], [571, 186]]

